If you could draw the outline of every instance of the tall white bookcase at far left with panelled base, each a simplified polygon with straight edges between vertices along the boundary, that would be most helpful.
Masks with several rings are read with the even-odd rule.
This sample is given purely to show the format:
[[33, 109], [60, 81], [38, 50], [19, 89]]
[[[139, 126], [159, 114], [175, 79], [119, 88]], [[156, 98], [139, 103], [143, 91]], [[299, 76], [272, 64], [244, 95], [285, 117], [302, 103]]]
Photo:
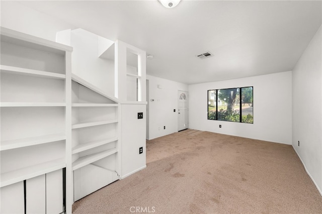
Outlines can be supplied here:
[[[2, 213], [64, 211], [66, 66], [70, 63], [66, 58], [71, 51], [1, 28]], [[52, 175], [55, 179], [46, 179]], [[35, 179], [44, 183], [43, 188], [32, 184]], [[46, 189], [46, 185], [55, 187]], [[7, 201], [15, 195], [18, 201]], [[35, 195], [58, 203], [34, 201]]]

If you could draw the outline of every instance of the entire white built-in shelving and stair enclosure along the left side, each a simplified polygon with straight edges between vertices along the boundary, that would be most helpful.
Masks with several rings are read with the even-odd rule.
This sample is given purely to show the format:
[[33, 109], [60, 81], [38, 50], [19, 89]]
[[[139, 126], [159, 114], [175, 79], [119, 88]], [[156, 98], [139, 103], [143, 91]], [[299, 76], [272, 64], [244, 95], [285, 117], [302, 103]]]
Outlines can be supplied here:
[[74, 40], [1, 28], [0, 213], [71, 213], [146, 167], [145, 51], [82, 29], [58, 38]]

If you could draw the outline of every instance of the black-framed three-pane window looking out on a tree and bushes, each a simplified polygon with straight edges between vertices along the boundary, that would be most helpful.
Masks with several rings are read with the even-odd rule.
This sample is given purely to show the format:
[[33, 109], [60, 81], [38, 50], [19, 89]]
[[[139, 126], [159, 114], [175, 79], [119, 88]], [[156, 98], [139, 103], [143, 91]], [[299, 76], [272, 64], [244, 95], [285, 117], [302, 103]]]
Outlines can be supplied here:
[[253, 86], [208, 90], [208, 120], [252, 124]]

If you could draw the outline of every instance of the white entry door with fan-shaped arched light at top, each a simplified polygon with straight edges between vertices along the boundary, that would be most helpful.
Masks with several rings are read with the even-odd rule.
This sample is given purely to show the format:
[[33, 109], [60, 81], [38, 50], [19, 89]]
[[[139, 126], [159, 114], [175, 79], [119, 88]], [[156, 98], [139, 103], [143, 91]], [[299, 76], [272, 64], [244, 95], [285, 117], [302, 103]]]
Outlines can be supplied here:
[[178, 91], [178, 131], [188, 129], [188, 92]]

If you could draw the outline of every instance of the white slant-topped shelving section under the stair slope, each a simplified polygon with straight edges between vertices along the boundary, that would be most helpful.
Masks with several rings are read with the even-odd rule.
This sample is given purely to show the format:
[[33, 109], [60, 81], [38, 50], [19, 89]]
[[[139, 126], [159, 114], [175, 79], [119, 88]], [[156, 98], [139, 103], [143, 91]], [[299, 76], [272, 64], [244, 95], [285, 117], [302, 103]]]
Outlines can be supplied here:
[[78, 200], [119, 179], [119, 103], [75, 74], [71, 80], [71, 154]]

